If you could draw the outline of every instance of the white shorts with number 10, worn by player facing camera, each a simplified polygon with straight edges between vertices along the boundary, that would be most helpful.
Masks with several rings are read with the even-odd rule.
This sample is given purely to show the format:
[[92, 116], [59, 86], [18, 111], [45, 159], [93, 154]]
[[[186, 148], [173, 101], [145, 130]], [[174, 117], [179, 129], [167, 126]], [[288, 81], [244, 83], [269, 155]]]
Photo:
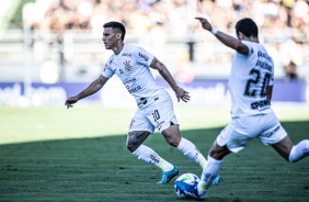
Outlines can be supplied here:
[[148, 131], [152, 134], [157, 128], [162, 134], [162, 131], [171, 125], [179, 125], [170, 94], [167, 92], [158, 96], [158, 98], [148, 108], [137, 110], [131, 119], [128, 132]]

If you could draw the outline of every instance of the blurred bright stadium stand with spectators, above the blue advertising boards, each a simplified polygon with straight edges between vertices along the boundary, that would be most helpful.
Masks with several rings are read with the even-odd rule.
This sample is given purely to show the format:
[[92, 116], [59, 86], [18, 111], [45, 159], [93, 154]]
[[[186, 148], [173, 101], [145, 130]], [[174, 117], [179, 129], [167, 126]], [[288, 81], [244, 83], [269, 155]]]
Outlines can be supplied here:
[[[207, 16], [214, 26], [234, 35], [234, 23], [253, 18], [260, 38], [276, 63], [276, 78], [309, 78], [309, 14], [304, 0], [36, 0], [24, 8], [24, 32], [0, 33], [0, 81], [24, 80], [31, 66], [33, 81], [42, 80], [46, 60], [58, 66], [62, 81], [98, 77], [110, 52], [102, 24], [121, 21], [126, 43], [142, 44], [184, 82], [195, 78], [227, 78], [232, 52], [203, 32], [194, 16]], [[25, 43], [24, 43], [25, 42]]]

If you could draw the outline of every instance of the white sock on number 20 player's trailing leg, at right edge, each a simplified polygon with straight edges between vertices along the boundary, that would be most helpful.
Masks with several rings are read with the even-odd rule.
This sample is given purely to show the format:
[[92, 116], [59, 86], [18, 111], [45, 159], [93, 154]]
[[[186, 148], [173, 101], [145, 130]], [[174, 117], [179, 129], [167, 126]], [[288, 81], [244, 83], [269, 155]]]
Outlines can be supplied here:
[[309, 156], [309, 139], [304, 139], [295, 145], [290, 149], [288, 158], [290, 162], [296, 162], [306, 156]]

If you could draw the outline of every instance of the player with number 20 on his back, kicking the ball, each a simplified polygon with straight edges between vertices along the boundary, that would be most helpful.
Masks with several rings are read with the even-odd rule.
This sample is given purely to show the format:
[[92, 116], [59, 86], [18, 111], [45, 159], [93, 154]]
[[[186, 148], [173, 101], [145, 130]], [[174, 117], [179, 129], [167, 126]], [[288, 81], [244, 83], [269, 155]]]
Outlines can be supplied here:
[[203, 29], [236, 50], [229, 77], [231, 121], [216, 138], [208, 154], [198, 186], [184, 188], [187, 194], [204, 199], [218, 175], [224, 157], [243, 149], [253, 138], [271, 145], [287, 161], [309, 155], [309, 139], [294, 145], [271, 108], [274, 61], [259, 43], [258, 26], [251, 19], [236, 24], [238, 38], [219, 32], [204, 18], [196, 18]]

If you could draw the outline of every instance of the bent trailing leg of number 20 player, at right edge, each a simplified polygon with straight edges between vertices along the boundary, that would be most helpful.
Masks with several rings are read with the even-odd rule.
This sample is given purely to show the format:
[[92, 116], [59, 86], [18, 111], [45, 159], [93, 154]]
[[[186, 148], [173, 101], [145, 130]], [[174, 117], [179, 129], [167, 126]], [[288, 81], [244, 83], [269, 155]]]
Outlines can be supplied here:
[[287, 161], [296, 162], [306, 156], [309, 156], [309, 139], [304, 139], [294, 145], [288, 136], [281, 142], [272, 145], [273, 148]]

